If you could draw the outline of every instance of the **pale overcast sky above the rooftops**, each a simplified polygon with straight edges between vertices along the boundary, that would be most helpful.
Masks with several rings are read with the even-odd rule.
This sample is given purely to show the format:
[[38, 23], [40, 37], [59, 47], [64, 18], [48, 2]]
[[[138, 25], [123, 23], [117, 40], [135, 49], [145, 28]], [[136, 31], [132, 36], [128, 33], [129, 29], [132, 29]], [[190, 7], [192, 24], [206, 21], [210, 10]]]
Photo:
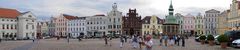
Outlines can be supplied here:
[[[227, 10], [232, 0], [173, 0], [175, 13], [197, 14], [209, 9]], [[75, 16], [106, 14], [112, 4], [126, 15], [129, 8], [136, 8], [142, 17], [157, 15], [165, 18], [170, 0], [0, 0], [0, 7], [32, 11], [38, 18], [47, 18], [60, 13]]]

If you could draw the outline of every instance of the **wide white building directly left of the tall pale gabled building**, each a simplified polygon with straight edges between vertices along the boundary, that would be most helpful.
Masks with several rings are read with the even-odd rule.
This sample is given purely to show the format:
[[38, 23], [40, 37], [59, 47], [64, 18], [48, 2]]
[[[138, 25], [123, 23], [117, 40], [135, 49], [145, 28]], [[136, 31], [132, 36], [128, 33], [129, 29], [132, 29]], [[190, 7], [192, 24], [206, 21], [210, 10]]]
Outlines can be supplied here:
[[86, 18], [87, 36], [101, 37], [107, 34], [108, 18], [105, 15], [94, 15]]

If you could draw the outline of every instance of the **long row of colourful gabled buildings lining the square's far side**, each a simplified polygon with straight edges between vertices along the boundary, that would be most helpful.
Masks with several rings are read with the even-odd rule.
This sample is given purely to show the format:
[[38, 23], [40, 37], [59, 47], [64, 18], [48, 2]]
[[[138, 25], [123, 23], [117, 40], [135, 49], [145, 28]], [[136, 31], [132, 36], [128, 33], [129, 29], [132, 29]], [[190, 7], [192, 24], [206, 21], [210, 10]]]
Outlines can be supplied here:
[[[98, 14], [94, 16], [77, 17], [67, 14], [61, 14], [52, 17], [50, 21], [39, 22], [46, 23], [38, 26], [47, 27], [41, 28], [39, 33], [46, 33], [51, 36], [67, 36], [78, 37], [79, 35], [86, 36], [102, 36], [104, 34], [126, 34], [126, 35], [144, 35], [144, 34], [161, 34], [173, 33], [177, 34], [223, 34], [226, 31], [238, 30], [240, 24], [238, 16], [239, 1], [233, 0], [229, 10], [220, 12], [215, 9], [210, 9], [204, 14], [197, 15], [182, 15], [174, 14], [172, 4], [169, 7], [169, 15], [166, 19], [152, 15], [141, 18], [136, 9], [129, 9], [129, 12], [124, 16], [118, 11], [117, 4], [114, 3], [112, 10], [107, 15]], [[174, 15], [173, 15], [174, 14]]]

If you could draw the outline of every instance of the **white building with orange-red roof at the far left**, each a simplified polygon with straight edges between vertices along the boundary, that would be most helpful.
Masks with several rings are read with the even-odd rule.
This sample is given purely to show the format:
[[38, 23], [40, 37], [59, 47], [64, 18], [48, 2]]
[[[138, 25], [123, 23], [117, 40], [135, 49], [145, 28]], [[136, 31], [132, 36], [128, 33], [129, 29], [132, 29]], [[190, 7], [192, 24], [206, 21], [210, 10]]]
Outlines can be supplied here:
[[36, 16], [30, 11], [20, 13], [15, 9], [0, 8], [0, 38], [36, 38]]

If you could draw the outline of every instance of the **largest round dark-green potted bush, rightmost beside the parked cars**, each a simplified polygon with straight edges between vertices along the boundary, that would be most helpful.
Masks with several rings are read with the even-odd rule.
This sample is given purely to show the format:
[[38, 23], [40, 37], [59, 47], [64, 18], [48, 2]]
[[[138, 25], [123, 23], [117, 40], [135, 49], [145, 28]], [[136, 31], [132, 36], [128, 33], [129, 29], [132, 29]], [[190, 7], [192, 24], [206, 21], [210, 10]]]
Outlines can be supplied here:
[[227, 48], [227, 42], [229, 41], [227, 35], [220, 35], [217, 40], [220, 42], [221, 48]]

